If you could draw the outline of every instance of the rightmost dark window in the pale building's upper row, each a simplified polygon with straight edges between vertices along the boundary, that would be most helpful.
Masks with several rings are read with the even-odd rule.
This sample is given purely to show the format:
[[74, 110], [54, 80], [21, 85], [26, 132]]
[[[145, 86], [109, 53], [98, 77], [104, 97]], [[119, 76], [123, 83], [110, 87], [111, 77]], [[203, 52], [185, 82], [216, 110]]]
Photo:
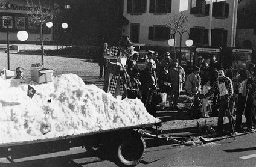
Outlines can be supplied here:
[[228, 18], [229, 4], [225, 1], [213, 3], [213, 16], [214, 17], [226, 17]]

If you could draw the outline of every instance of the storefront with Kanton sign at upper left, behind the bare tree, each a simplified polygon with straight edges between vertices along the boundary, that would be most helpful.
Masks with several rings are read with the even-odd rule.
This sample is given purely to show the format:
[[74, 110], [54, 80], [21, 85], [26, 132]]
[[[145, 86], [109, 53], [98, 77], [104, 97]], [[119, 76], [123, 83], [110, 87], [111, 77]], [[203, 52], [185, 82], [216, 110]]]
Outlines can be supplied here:
[[[38, 2], [39, 0], [33, 1], [33, 4], [38, 4]], [[53, 8], [51, 4], [48, 2], [49, 8]], [[45, 11], [48, 9], [45, 5], [42, 5], [42, 8], [45, 8]], [[30, 22], [27, 17], [28, 9], [26, 1], [0, 2], [0, 43], [6, 43], [7, 31], [9, 31], [10, 42], [18, 43], [16, 34], [20, 30], [28, 32], [28, 40], [25, 43], [40, 41], [40, 25]], [[47, 28], [46, 25], [43, 25], [43, 41], [53, 41], [52, 29]]]

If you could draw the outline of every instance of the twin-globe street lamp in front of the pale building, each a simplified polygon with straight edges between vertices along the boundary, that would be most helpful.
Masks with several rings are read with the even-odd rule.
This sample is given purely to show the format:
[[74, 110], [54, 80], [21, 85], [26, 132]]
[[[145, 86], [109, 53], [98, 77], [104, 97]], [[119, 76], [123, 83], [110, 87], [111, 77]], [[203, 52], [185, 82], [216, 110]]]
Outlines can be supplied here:
[[174, 57], [176, 58], [176, 32], [179, 33], [179, 54], [180, 54], [180, 58], [181, 58], [181, 41], [182, 41], [182, 35], [186, 32], [188, 34], [188, 39], [186, 40], [185, 44], [186, 46], [190, 47], [193, 45], [193, 40], [190, 39], [190, 33], [188, 33], [187, 31], [183, 31], [183, 32], [179, 32], [179, 31], [174, 31], [174, 38], [169, 39], [168, 40], [168, 45], [169, 46], [173, 46], [174, 47]]

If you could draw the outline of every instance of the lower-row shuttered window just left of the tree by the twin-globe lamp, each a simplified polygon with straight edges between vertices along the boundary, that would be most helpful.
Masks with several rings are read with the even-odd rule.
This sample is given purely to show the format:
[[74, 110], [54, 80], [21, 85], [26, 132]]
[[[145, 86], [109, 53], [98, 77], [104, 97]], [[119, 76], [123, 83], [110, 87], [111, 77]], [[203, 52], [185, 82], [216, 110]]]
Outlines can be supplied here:
[[166, 41], [170, 37], [170, 28], [165, 25], [149, 27], [149, 40]]

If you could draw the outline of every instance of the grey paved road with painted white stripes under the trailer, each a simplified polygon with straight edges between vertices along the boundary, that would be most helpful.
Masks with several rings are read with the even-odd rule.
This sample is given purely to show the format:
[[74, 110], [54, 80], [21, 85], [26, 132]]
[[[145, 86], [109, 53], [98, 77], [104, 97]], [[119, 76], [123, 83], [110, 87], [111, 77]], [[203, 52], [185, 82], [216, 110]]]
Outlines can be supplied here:
[[[256, 134], [238, 136], [204, 145], [165, 145], [156, 142], [147, 148], [144, 159], [138, 167], [143, 166], [254, 166], [256, 163]], [[158, 144], [157, 144], [158, 143]], [[114, 162], [87, 152], [81, 147], [71, 151], [44, 154], [42, 156], [14, 159], [0, 159], [1, 167], [114, 167]]]

